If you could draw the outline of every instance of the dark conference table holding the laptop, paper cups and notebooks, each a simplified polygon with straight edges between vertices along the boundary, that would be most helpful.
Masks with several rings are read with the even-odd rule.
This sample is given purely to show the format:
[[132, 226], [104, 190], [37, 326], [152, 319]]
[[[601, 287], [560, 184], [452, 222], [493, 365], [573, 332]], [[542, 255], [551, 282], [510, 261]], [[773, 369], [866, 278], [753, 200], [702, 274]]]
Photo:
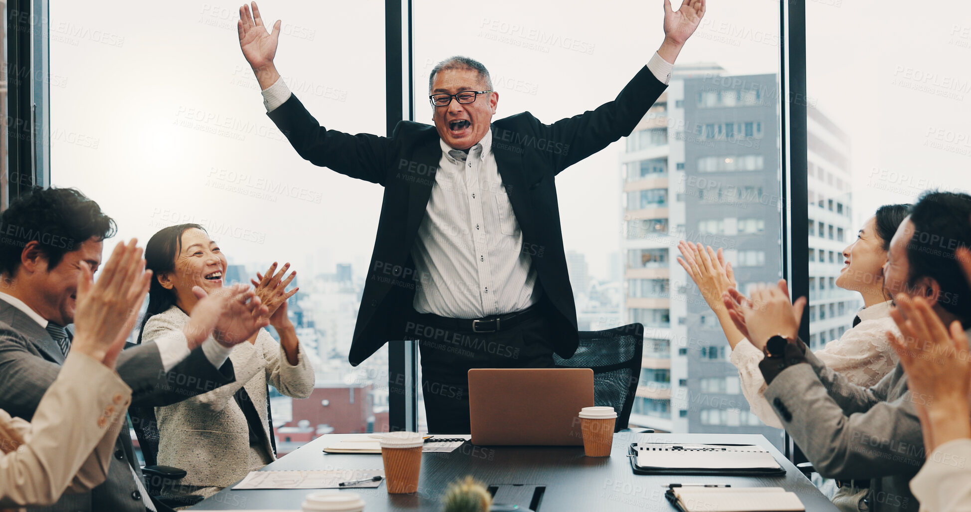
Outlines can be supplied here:
[[[348, 436], [328, 434], [300, 447], [264, 471], [308, 469], [383, 469], [381, 455], [325, 454]], [[781, 476], [636, 475], [627, 458], [632, 442], [754, 444], [768, 450], [786, 468]], [[582, 446], [475, 446], [463, 443], [451, 453], [424, 453], [419, 490], [411, 495], [388, 495], [385, 483], [375, 489], [353, 489], [365, 512], [442, 510], [441, 496], [450, 483], [472, 475], [504, 502], [519, 499], [528, 505], [540, 496], [537, 512], [677, 510], [664, 497], [672, 483], [723, 483], [732, 487], [781, 487], [799, 496], [807, 511], [837, 508], [760, 434], [635, 433], [614, 434], [610, 457], [589, 458]], [[537, 488], [539, 487], [539, 490]], [[193, 506], [192, 510], [300, 510], [304, 496], [314, 490], [248, 490], [226, 488]], [[499, 499], [496, 499], [498, 502]], [[534, 501], [535, 502], [535, 501]]]

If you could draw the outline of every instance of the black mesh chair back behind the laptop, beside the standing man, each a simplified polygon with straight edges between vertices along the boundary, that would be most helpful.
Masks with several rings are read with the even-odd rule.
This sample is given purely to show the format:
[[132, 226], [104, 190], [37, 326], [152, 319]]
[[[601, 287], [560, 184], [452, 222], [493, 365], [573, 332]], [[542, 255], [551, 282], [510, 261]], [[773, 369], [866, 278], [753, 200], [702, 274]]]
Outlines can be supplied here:
[[580, 346], [572, 358], [553, 355], [557, 368], [593, 370], [593, 404], [617, 411], [614, 431], [627, 427], [634, 393], [641, 378], [644, 325], [628, 324], [607, 330], [580, 331]]

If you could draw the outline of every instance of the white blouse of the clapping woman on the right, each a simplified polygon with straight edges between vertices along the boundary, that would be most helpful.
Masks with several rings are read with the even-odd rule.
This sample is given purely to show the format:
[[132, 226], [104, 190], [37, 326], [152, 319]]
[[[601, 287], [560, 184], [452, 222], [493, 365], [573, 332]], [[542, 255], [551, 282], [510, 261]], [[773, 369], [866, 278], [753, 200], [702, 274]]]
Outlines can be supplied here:
[[[880, 382], [897, 365], [897, 354], [887, 341], [887, 331], [900, 334], [900, 329], [890, 318], [891, 302], [887, 300], [861, 310], [856, 314], [860, 323], [845, 331], [840, 339], [826, 343], [814, 353], [816, 357], [857, 386], [869, 388]], [[782, 428], [775, 409], [763, 396], [765, 379], [758, 369], [762, 357], [762, 351], [742, 338], [729, 360], [738, 368], [742, 393], [749, 400], [752, 413], [765, 425]]]

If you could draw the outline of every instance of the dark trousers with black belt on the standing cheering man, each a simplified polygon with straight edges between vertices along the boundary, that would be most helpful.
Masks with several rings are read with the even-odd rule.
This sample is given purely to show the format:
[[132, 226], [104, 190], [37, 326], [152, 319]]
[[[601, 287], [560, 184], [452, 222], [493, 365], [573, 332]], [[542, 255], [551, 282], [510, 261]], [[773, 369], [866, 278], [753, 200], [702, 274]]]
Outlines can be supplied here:
[[[472, 368], [552, 368], [552, 324], [540, 315], [508, 329], [473, 332], [442, 328], [429, 315], [416, 318], [421, 392], [432, 433], [469, 433]], [[430, 327], [430, 328], [429, 328]]]

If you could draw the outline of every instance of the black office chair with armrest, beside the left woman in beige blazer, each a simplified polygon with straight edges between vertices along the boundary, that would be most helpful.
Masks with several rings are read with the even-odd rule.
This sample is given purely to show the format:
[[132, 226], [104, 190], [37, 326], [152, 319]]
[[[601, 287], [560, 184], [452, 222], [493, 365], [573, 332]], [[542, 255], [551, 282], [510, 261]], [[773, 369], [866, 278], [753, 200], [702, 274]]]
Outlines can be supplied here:
[[142, 474], [145, 476], [145, 488], [152, 497], [165, 506], [176, 508], [190, 506], [202, 501], [203, 496], [180, 495], [164, 496], [162, 488], [165, 484], [176, 482], [187, 474], [184, 469], [170, 465], [157, 465], [158, 456], [158, 423], [155, 421], [155, 409], [152, 407], [128, 407], [131, 425], [135, 428], [138, 445], [142, 448], [145, 466]]

